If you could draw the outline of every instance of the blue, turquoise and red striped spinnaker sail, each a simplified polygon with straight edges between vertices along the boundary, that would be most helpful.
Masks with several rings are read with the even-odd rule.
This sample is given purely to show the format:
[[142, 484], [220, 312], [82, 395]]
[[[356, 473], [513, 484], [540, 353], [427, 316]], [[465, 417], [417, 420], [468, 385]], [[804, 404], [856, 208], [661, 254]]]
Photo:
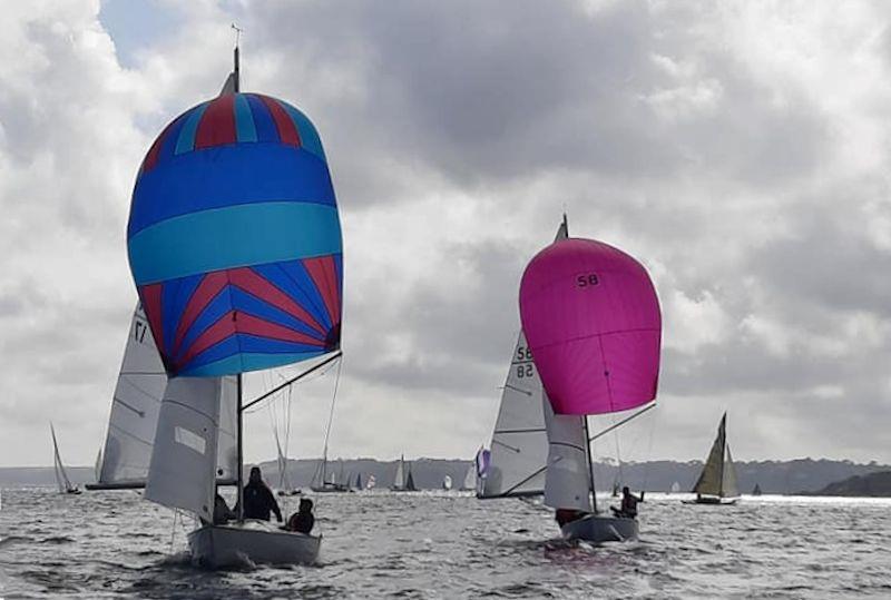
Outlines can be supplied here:
[[174, 119], [139, 169], [127, 248], [173, 376], [257, 371], [340, 347], [331, 174], [315, 127], [282, 100], [227, 94]]

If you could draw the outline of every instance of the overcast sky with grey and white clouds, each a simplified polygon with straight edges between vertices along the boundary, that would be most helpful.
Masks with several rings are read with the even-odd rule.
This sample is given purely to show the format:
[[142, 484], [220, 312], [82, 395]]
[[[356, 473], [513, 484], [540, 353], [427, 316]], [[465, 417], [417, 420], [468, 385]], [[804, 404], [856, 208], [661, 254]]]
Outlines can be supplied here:
[[[891, 463], [891, 4], [47, 0], [0, 20], [0, 466], [51, 464], [50, 420], [92, 463], [136, 171], [218, 92], [232, 22], [243, 89], [306, 112], [332, 168], [330, 455], [487, 443], [522, 269], [566, 210], [663, 311], [658, 406], [598, 456], [704, 459], [727, 411], [737, 461]], [[335, 378], [295, 387], [291, 456], [321, 453]], [[285, 413], [248, 415], [248, 460]]]

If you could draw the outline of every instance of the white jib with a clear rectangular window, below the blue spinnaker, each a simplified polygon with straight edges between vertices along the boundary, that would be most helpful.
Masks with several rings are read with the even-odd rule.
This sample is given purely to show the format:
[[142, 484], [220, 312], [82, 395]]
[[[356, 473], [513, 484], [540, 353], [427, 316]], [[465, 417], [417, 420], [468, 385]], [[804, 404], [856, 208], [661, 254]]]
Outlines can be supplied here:
[[223, 383], [176, 377], [164, 394], [145, 498], [210, 521]]

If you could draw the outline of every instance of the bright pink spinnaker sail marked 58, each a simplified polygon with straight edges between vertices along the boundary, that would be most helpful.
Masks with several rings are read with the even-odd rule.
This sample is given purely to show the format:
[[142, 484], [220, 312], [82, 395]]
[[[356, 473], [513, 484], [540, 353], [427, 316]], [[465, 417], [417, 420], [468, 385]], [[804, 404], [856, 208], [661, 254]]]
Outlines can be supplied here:
[[526, 267], [520, 317], [554, 412], [604, 414], [656, 397], [662, 315], [640, 263], [593, 239], [560, 239]]

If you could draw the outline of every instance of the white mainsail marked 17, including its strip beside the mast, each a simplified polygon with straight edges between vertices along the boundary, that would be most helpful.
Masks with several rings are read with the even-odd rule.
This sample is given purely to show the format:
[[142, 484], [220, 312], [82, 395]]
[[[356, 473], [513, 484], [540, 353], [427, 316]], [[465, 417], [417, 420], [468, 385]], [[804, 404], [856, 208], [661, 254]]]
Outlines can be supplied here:
[[[238, 397], [235, 377], [224, 377], [223, 381], [216, 476], [221, 482], [233, 482], [237, 478]], [[167, 373], [145, 313], [137, 305], [111, 401], [101, 464], [97, 470], [99, 488], [146, 483], [166, 387]]]

